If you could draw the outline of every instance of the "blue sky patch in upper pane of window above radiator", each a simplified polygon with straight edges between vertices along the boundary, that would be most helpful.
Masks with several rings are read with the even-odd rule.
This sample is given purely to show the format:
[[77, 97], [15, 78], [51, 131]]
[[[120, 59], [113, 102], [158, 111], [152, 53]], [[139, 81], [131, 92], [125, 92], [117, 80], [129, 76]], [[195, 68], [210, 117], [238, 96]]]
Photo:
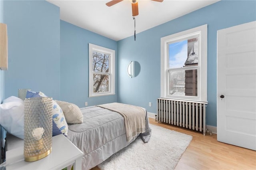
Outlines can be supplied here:
[[169, 68], [183, 67], [188, 55], [188, 40], [169, 44]]

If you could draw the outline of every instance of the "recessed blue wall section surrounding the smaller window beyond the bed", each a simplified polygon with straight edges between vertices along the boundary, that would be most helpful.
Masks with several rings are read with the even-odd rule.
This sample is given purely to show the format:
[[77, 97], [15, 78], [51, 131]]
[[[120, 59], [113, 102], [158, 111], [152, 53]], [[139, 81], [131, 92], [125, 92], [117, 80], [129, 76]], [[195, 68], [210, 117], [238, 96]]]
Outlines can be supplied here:
[[117, 95], [88, 98], [88, 43], [117, 51], [116, 41], [60, 21], [60, 98], [79, 107], [85, 102], [88, 106], [117, 102]]

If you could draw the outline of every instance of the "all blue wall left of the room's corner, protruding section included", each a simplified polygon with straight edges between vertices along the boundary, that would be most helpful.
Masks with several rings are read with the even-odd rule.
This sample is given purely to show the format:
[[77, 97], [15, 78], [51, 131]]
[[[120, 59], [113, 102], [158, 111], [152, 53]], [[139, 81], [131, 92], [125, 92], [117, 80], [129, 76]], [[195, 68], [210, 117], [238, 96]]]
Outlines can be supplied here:
[[9, 51], [1, 81], [5, 97], [30, 88], [79, 107], [86, 101], [89, 106], [117, 101], [117, 95], [88, 98], [88, 43], [117, 51], [116, 41], [60, 21], [59, 7], [46, 1], [4, 1], [3, 6]]

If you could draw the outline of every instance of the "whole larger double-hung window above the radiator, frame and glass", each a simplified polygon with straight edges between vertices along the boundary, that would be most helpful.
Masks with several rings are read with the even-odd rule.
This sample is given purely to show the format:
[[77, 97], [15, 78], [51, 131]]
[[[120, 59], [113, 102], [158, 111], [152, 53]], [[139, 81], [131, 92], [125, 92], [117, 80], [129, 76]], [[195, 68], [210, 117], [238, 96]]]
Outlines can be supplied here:
[[161, 97], [207, 101], [207, 25], [161, 38]]

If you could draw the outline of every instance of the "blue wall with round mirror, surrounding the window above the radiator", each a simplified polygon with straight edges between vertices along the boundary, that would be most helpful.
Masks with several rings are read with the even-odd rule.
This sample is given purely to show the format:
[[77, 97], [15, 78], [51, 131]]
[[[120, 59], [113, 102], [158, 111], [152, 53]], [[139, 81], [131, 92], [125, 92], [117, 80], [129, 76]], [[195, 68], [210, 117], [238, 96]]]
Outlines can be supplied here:
[[[156, 113], [160, 97], [160, 38], [208, 24], [207, 125], [216, 126], [217, 30], [256, 20], [256, 1], [220, 1], [195, 12], [118, 41], [118, 102], [139, 105]], [[142, 23], [140, 23], [142, 24]], [[129, 78], [126, 67], [138, 61], [138, 77]], [[152, 102], [152, 107], [148, 107]]]

